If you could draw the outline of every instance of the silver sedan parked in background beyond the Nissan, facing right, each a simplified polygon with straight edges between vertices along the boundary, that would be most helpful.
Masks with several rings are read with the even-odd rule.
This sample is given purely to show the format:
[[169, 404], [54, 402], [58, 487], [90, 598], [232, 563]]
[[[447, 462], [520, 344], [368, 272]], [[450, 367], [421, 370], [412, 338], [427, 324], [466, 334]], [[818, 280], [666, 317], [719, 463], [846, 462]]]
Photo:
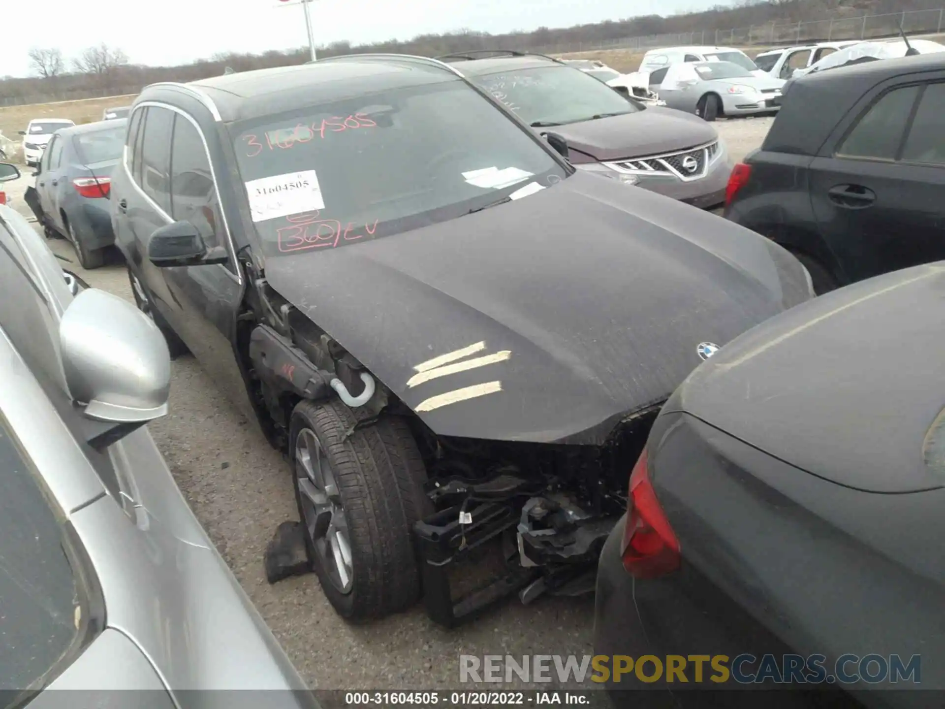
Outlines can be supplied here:
[[784, 80], [757, 77], [731, 61], [694, 61], [650, 74], [650, 90], [671, 109], [720, 117], [777, 112]]

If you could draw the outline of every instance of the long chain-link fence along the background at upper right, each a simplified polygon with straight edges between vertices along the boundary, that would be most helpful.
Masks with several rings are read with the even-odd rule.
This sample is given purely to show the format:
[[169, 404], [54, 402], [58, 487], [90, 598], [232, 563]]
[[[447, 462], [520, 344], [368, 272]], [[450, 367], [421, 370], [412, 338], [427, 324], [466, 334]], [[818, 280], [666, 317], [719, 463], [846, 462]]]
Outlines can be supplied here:
[[663, 46], [684, 44], [712, 44], [720, 46], [773, 46], [843, 40], [869, 40], [899, 35], [899, 27], [907, 34], [941, 34], [945, 28], [945, 9], [919, 9], [885, 15], [836, 17], [830, 20], [799, 22], [791, 25], [733, 27], [731, 29], [697, 29], [679, 34], [626, 37], [597, 42], [561, 43], [552, 46], [531, 47], [542, 54], [627, 49], [645, 51]]

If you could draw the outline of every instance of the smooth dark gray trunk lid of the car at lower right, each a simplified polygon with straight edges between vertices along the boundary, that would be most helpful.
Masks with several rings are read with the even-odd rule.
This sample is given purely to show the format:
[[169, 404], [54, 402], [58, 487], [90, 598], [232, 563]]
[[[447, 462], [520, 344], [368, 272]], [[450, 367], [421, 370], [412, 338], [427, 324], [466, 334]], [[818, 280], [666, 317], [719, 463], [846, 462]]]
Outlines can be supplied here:
[[666, 410], [857, 490], [943, 487], [943, 292], [945, 262], [828, 293], [713, 355]]

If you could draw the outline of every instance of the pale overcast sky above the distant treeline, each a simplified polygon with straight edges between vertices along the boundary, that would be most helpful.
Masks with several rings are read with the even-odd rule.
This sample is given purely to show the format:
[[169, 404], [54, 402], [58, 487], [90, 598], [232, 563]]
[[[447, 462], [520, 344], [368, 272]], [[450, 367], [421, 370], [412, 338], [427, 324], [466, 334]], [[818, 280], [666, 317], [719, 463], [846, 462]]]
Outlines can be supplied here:
[[[715, 4], [718, 0], [318, 0], [312, 17], [319, 44], [356, 44], [464, 27], [497, 34], [571, 26]], [[278, 0], [43, 0], [35, 5], [27, 13], [28, 30], [13, 23], [4, 33], [0, 76], [26, 76], [26, 52], [32, 46], [59, 47], [72, 58], [104, 42], [124, 49], [134, 63], [157, 65], [307, 43], [301, 7], [281, 7]]]

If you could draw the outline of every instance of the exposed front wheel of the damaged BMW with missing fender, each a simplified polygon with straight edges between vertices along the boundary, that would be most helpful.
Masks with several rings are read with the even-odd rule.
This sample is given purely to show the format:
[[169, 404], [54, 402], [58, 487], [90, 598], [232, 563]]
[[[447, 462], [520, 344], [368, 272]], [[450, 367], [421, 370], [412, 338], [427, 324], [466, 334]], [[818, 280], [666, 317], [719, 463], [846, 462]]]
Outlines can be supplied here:
[[289, 428], [309, 562], [335, 611], [350, 620], [417, 602], [421, 575], [413, 526], [432, 511], [423, 492], [423, 461], [407, 425], [387, 417], [352, 431], [368, 416], [338, 400], [302, 401]]

